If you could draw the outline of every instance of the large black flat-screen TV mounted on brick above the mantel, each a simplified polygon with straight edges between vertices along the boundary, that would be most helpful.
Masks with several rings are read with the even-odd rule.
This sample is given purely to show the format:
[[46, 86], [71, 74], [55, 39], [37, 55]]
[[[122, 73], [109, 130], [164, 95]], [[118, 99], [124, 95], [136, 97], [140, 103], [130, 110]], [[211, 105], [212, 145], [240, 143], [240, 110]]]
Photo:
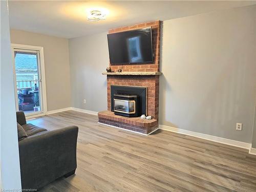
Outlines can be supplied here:
[[153, 62], [151, 27], [108, 34], [110, 63]]

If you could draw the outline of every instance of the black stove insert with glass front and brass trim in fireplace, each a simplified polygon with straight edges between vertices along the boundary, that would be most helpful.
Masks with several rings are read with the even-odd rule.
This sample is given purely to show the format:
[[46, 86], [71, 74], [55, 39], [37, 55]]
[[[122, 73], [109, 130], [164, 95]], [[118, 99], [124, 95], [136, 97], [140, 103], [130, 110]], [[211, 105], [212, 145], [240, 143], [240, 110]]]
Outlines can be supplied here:
[[114, 94], [114, 113], [125, 117], [138, 117], [139, 96], [129, 94]]

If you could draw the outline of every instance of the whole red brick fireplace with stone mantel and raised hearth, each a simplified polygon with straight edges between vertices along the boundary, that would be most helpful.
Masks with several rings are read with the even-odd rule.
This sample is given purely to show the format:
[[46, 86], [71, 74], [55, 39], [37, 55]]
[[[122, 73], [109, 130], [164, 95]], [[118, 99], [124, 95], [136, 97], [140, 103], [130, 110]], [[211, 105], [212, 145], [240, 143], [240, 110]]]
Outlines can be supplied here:
[[[159, 115], [159, 62], [160, 62], [160, 30], [161, 22], [148, 22], [133, 26], [125, 26], [109, 30], [109, 33], [122, 32], [127, 30], [141, 29], [144, 27], [152, 28], [152, 46], [154, 61], [152, 63], [134, 64], [110, 64], [110, 68], [115, 73], [102, 73], [107, 75], [108, 92], [108, 111], [98, 113], [100, 123], [117, 126], [142, 134], [150, 134], [158, 129]], [[122, 72], [117, 72], [121, 69]], [[123, 117], [115, 115], [111, 111], [111, 86], [131, 86], [144, 87], [146, 93], [146, 115], [151, 115], [152, 119], [140, 119], [140, 117]], [[113, 102], [112, 102], [113, 104]]]

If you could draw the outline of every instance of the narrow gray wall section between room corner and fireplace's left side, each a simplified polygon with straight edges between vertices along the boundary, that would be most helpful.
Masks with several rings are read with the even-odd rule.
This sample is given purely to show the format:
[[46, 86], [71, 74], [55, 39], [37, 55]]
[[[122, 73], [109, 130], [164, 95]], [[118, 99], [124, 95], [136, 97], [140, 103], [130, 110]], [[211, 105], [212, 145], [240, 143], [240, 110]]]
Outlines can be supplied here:
[[72, 106], [107, 110], [106, 76], [101, 74], [109, 66], [106, 33], [70, 39], [69, 50]]

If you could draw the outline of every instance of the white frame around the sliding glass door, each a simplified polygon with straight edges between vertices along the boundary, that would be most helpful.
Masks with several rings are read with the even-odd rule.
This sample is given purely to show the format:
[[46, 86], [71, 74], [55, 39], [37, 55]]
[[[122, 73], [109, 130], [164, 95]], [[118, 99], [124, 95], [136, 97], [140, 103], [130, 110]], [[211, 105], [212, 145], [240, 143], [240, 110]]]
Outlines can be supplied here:
[[[13, 74], [15, 72], [15, 57], [14, 57], [14, 49], [23, 49], [23, 50], [33, 50], [39, 52], [39, 60], [40, 60], [40, 74], [41, 74], [41, 97], [42, 97], [42, 109], [43, 112], [35, 115], [26, 116], [29, 118], [39, 117], [47, 114], [47, 98], [46, 98], [46, 78], [45, 78], [45, 57], [44, 57], [44, 47], [38, 46], [30, 46], [30, 45], [22, 45], [22, 44], [11, 44], [12, 49], [12, 63], [13, 63]], [[16, 75], [13, 75], [14, 80], [14, 91], [15, 91], [15, 99], [17, 100], [17, 90], [16, 90]], [[15, 100], [15, 102], [16, 102]], [[18, 110], [16, 106], [16, 110]]]

